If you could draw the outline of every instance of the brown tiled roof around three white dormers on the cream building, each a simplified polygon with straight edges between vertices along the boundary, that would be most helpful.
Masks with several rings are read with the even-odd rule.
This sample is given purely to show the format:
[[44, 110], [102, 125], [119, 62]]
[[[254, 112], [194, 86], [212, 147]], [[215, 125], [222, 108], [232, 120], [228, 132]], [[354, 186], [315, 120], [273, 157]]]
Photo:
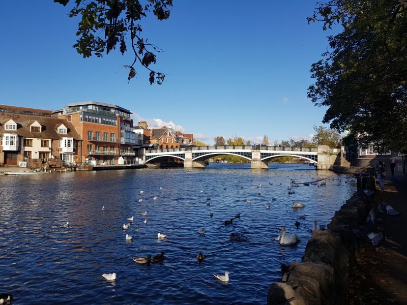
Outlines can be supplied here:
[[[0, 112], [0, 121], [14, 120], [17, 123], [17, 130], [9, 131], [4, 130], [4, 126], [0, 126], [0, 134], [4, 133], [16, 133], [24, 138], [39, 138], [39, 139], [61, 139], [63, 137], [72, 137], [75, 140], [80, 140], [80, 136], [75, 130], [72, 123], [69, 123], [66, 119], [55, 117], [55, 116], [40, 116], [33, 114], [21, 114], [21, 113], [10, 113], [10, 112]], [[34, 122], [42, 126], [42, 132], [32, 132], [30, 130], [30, 125]], [[58, 134], [56, 132], [56, 125], [64, 124], [68, 128], [67, 134]]]

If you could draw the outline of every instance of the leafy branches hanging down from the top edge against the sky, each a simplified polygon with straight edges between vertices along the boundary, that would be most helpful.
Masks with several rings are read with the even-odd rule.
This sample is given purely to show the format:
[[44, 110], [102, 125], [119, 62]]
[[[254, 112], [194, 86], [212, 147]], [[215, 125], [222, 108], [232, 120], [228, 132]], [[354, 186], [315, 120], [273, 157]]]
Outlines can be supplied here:
[[[54, 0], [66, 6], [70, 0]], [[83, 58], [96, 55], [102, 57], [103, 53], [115, 49], [118, 44], [122, 54], [130, 49], [134, 53], [134, 60], [128, 68], [128, 81], [136, 76], [135, 65], [138, 63], [150, 71], [150, 84], [161, 84], [165, 74], [150, 68], [156, 63], [156, 54], [161, 51], [156, 45], [149, 43], [148, 39], [141, 37], [141, 18], [146, 18], [152, 12], [160, 21], [168, 19], [172, 0], [75, 0], [69, 17], [79, 17], [79, 36], [73, 45]]]

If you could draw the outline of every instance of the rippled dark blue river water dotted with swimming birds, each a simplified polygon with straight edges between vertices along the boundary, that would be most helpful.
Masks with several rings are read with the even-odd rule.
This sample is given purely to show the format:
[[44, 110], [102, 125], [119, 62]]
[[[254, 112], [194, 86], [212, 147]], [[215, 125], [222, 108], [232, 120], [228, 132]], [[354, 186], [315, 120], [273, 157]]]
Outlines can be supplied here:
[[[326, 186], [288, 195], [291, 179], [323, 177]], [[313, 220], [328, 224], [355, 190], [353, 177], [302, 164], [0, 176], [0, 293], [12, 293], [17, 304], [264, 304], [281, 263], [301, 260]], [[293, 209], [293, 200], [305, 207]], [[225, 226], [237, 212], [241, 218]], [[297, 246], [274, 240], [281, 227], [298, 235]], [[248, 241], [231, 241], [231, 233]], [[160, 252], [162, 263], [133, 261]], [[213, 276], [225, 271], [228, 284]], [[101, 276], [111, 272], [114, 282]]]

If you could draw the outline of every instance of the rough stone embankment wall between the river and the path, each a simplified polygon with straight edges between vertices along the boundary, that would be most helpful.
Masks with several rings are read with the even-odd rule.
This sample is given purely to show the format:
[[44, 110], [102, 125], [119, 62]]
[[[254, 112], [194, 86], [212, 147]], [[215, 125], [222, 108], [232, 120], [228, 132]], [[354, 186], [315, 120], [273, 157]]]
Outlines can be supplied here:
[[301, 262], [292, 262], [282, 282], [272, 283], [269, 305], [345, 304], [349, 275], [372, 207], [374, 177], [364, 177], [369, 195], [358, 190], [335, 212], [328, 229], [315, 230]]

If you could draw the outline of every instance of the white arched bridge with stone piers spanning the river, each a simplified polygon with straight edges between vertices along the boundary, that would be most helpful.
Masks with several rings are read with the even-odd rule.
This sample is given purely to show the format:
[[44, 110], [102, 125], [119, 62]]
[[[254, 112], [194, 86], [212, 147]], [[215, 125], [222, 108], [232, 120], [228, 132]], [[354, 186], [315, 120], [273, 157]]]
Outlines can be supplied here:
[[[323, 147], [323, 148], [321, 148]], [[325, 151], [323, 150], [325, 149]], [[328, 150], [328, 151], [327, 151]], [[318, 169], [325, 166], [328, 146], [318, 148], [307, 147], [281, 147], [281, 146], [191, 146], [171, 149], [149, 149], [144, 151], [144, 163], [147, 166], [160, 166], [168, 157], [184, 161], [184, 167], [205, 167], [205, 160], [220, 155], [239, 156], [251, 162], [251, 168], [266, 169], [269, 167], [270, 159], [279, 157], [295, 157], [317, 164]], [[329, 163], [329, 161], [328, 161]]]

